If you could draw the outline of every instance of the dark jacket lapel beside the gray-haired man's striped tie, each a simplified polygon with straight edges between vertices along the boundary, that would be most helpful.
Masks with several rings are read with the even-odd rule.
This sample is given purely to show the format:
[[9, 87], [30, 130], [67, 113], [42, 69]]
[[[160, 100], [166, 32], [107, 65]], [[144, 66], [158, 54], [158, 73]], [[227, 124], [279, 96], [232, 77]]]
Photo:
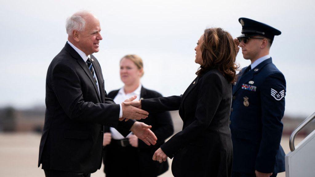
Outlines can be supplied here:
[[85, 64], [84, 60], [81, 58], [81, 56], [68, 43], [66, 43], [65, 49], [69, 52], [69, 54], [72, 55], [73, 58], [77, 59], [78, 64], [82, 67], [83, 71], [88, 75], [88, 77], [90, 78], [90, 80], [91, 80], [91, 82], [92, 82], [92, 84], [93, 84], [93, 86], [95, 88], [96, 94], [98, 95], [98, 99], [101, 102], [100, 94], [98, 92], [98, 88], [96, 86], [96, 83], [94, 81], [92, 73], [89, 70], [88, 66]]

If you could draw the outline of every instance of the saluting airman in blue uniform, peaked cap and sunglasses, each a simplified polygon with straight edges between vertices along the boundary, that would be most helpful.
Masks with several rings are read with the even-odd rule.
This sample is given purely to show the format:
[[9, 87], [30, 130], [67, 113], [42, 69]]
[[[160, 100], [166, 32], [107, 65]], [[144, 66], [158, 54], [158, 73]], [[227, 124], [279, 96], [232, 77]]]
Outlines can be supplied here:
[[240, 71], [232, 89], [232, 177], [275, 177], [285, 170], [280, 141], [286, 82], [269, 49], [281, 31], [247, 18], [238, 21], [242, 25], [239, 47], [251, 65]]

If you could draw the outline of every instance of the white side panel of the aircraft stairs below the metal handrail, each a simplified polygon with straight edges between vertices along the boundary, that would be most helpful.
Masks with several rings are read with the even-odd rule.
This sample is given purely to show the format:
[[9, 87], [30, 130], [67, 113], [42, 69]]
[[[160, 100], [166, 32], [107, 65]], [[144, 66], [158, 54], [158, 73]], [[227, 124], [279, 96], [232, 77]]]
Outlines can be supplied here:
[[285, 156], [286, 177], [315, 177], [315, 130]]

